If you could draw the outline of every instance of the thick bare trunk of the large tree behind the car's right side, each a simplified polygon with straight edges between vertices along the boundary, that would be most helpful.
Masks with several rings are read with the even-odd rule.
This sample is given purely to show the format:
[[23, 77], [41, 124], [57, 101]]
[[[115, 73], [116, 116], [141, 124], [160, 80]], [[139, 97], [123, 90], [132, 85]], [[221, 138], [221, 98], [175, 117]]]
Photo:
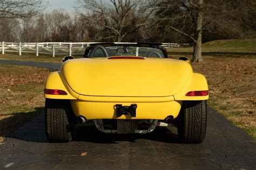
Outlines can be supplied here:
[[197, 16], [197, 27], [196, 27], [196, 42], [194, 43], [193, 57], [197, 62], [203, 62], [201, 44], [202, 44], [202, 26], [203, 26], [203, 2], [204, 0], [198, 1], [198, 16]]

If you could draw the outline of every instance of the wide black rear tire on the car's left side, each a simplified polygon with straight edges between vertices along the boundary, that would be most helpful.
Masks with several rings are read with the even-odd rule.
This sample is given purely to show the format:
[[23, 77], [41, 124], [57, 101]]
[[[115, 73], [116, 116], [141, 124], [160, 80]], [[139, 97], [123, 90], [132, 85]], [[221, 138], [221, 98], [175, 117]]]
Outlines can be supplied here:
[[71, 114], [69, 100], [45, 99], [45, 130], [49, 142], [72, 140], [69, 126]]

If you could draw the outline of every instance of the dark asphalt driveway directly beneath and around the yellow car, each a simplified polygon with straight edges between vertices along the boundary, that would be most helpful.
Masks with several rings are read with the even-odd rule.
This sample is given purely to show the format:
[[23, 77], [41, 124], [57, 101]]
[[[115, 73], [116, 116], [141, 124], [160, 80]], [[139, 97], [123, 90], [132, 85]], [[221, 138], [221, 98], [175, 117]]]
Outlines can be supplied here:
[[5, 138], [0, 169], [256, 169], [256, 141], [212, 108], [207, 119], [197, 145], [179, 144], [175, 128], [127, 137], [93, 126], [75, 127], [72, 142], [50, 144], [42, 112]]

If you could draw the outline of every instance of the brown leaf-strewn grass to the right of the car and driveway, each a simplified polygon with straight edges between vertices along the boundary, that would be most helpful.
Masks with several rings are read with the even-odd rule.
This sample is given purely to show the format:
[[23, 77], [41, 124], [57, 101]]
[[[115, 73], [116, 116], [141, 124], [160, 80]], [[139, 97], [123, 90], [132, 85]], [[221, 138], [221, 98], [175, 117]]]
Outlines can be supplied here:
[[256, 57], [204, 56], [192, 65], [207, 78], [208, 104], [256, 139]]

